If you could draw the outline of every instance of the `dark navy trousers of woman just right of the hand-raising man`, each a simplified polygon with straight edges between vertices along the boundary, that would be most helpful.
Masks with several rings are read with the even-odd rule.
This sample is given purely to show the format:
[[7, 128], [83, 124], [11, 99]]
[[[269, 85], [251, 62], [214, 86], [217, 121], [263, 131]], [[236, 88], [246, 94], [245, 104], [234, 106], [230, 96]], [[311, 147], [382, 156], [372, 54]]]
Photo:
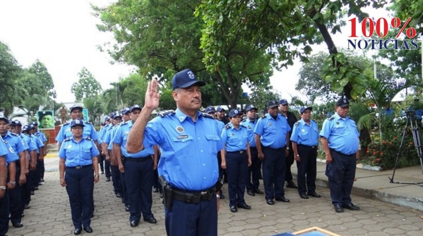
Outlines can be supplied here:
[[229, 206], [245, 204], [245, 184], [248, 177], [247, 152], [226, 152], [226, 174], [228, 175]]

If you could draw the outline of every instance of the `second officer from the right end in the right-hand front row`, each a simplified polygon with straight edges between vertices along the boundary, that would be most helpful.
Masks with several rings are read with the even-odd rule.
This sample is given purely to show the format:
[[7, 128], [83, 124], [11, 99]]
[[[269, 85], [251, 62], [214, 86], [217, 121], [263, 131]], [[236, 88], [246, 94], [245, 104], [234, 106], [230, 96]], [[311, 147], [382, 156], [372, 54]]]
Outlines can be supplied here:
[[302, 118], [294, 124], [291, 135], [292, 149], [298, 169], [298, 193], [302, 199], [308, 199], [308, 196], [320, 198], [320, 195], [316, 193], [315, 183], [319, 127], [317, 127], [316, 121], [310, 119], [312, 109], [312, 107], [300, 109]]

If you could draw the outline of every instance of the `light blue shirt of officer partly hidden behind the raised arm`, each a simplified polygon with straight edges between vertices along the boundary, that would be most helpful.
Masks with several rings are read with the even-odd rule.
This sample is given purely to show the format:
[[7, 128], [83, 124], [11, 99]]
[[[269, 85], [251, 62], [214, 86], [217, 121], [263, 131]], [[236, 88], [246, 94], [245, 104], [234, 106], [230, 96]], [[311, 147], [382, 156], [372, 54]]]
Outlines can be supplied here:
[[113, 138], [112, 142], [121, 146], [122, 155], [125, 157], [130, 158], [143, 158], [149, 157], [154, 154], [154, 148], [145, 148], [137, 153], [129, 153], [126, 150], [126, 141], [128, 140], [129, 131], [132, 128], [132, 120], [128, 120], [127, 122], [121, 123], [121, 126], [116, 130], [115, 137]]

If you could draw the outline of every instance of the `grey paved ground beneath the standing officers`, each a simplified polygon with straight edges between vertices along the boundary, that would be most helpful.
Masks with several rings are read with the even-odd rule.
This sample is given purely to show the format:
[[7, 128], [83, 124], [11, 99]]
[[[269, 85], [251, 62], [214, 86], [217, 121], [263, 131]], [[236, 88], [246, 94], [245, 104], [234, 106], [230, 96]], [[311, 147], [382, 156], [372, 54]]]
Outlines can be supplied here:
[[[319, 164], [317, 182], [325, 185], [322, 177], [323, 164]], [[9, 229], [9, 236], [67, 236], [73, 235], [73, 226], [70, 215], [69, 201], [66, 190], [59, 184], [57, 158], [46, 159], [46, 172], [44, 185], [32, 196], [30, 209], [25, 210], [23, 218], [24, 227]], [[294, 171], [295, 166], [292, 168]], [[414, 170], [414, 169], [412, 169]], [[251, 210], [239, 209], [232, 213], [228, 207], [228, 199], [221, 200], [219, 211], [218, 235], [219, 236], [272, 236], [283, 232], [296, 232], [309, 227], [317, 226], [342, 236], [422, 236], [423, 215], [422, 211], [411, 207], [396, 206], [382, 202], [368, 195], [382, 194], [382, 190], [395, 194], [415, 193], [423, 196], [423, 188], [416, 185], [400, 186], [389, 183], [386, 175], [388, 172], [358, 171], [355, 182], [353, 202], [360, 206], [360, 211], [345, 209], [344, 213], [333, 211], [329, 190], [319, 187], [320, 199], [303, 200], [298, 196], [296, 189], [286, 189], [286, 197], [291, 203], [275, 202], [269, 206], [264, 201], [263, 195], [254, 197], [245, 194], [247, 204]], [[414, 170], [418, 171], [418, 170]], [[406, 171], [410, 174], [411, 171]], [[323, 173], [324, 175], [324, 173]], [[373, 176], [372, 176], [373, 175]], [[422, 176], [421, 170], [420, 175]], [[420, 177], [421, 177], [420, 176]], [[398, 181], [402, 175], [398, 174]], [[417, 179], [419, 176], [414, 175]], [[380, 178], [380, 179], [379, 179]], [[410, 179], [405, 179], [410, 180]], [[377, 182], [379, 181], [379, 182]], [[365, 189], [361, 186], [367, 186]], [[262, 188], [263, 185], [261, 185]], [[227, 196], [227, 185], [224, 185]], [[263, 189], [263, 188], [262, 188]], [[402, 190], [401, 190], [402, 189]], [[406, 190], [409, 191], [406, 191]], [[164, 236], [163, 205], [158, 194], [153, 193], [152, 211], [158, 223], [152, 225], [141, 222], [137, 228], [129, 226], [129, 213], [124, 211], [124, 206], [119, 198], [113, 194], [111, 182], [105, 182], [105, 176], [100, 176], [100, 181], [94, 188], [95, 211], [91, 221], [92, 234], [83, 231], [82, 235], [102, 236]], [[413, 190], [413, 191], [411, 191]], [[378, 192], [379, 191], [379, 192]], [[412, 197], [414, 199], [414, 197]]]

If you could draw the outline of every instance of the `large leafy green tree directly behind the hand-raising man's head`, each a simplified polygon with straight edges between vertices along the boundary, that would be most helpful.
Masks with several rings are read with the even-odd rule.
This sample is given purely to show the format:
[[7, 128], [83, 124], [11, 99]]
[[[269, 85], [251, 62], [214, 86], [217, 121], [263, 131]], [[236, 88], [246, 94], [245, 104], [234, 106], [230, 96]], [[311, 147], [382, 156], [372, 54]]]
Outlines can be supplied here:
[[98, 29], [113, 32], [117, 41], [102, 50], [118, 61], [137, 65], [142, 75], [163, 75], [166, 81], [176, 71], [190, 68], [201, 80], [217, 84], [221, 93], [211, 96], [223, 94], [227, 103], [236, 106], [243, 83], [269, 84], [271, 58], [265, 48], [252, 50], [251, 43], [236, 37], [222, 52], [225, 63], [206, 70], [200, 50], [203, 21], [193, 16], [199, 4], [198, 0], [120, 0], [106, 8], [93, 6], [103, 23]]

